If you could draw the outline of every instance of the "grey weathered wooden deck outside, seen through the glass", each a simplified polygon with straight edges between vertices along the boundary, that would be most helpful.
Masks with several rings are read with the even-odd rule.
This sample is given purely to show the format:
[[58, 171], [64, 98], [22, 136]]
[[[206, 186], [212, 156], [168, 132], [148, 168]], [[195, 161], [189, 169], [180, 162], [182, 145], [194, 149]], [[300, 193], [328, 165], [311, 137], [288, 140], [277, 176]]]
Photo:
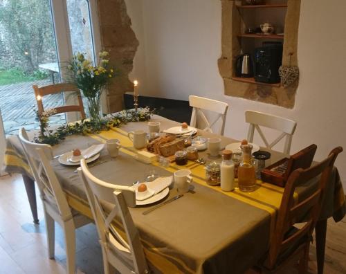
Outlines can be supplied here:
[[[49, 80], [23, 82], [0, 86], [0, 110], [6, 135], [17, 134], [18, 129], [24, 126], [31, 130], [38, 127], [35, 110], [37, 104], [33, 91], [33, 84], [44, 86], [51, 84]], [[48, 95], [44, 97], [45, 109], [63, 104], [62, 95]], [[52, 116], [50, 125], [65, 122], [64, 114]]]

